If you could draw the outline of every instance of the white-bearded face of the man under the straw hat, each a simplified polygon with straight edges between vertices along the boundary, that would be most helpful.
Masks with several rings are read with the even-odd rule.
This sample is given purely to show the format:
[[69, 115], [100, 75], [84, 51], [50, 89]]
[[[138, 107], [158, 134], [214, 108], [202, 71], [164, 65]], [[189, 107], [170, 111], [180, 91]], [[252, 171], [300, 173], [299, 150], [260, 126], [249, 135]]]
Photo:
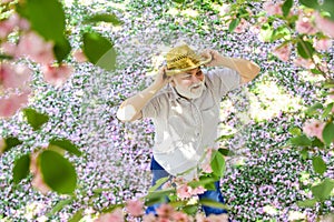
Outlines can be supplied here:
[[200, 68], [189, 70], [173, 78], [176, 91], [187, 99], [197, 99], [202, 95], [205, 88], [204, 81], [205, 77]]

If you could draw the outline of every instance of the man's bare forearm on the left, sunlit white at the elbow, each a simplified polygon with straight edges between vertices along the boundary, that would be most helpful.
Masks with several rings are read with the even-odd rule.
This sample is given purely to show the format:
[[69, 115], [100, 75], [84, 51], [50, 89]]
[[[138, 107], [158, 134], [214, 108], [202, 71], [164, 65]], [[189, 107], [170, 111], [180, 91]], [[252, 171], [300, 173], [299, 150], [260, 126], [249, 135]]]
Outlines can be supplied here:
[[140, 113], [143, 108], [163, 87], [164, 85], [154, 83], [124, 101], [117, 111], [117, 118], [121, 121], [134, 121], [141, 117]]

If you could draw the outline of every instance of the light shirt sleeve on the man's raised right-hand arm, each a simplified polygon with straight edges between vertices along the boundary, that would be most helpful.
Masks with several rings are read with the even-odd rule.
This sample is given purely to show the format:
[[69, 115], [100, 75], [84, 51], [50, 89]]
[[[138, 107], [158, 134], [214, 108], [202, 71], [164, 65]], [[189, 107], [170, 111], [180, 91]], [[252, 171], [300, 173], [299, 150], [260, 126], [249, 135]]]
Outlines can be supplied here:
[[242, 84], [239, 73], [228, 68], [212, 70], [208, 73], [208, 78], [210, 78], [214, 89], [220, 98], [227, 92], [237, 89]]

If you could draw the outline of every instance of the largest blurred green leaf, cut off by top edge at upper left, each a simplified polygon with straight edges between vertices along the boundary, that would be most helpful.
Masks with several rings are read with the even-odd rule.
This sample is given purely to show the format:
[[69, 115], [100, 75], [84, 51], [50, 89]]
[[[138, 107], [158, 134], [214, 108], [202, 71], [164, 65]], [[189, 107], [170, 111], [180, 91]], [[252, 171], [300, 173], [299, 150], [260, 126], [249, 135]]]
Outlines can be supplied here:
[[65, 12], [58, 0], [20, 1], [19, 13], [46, 40], [61, 42], [65, 32]]

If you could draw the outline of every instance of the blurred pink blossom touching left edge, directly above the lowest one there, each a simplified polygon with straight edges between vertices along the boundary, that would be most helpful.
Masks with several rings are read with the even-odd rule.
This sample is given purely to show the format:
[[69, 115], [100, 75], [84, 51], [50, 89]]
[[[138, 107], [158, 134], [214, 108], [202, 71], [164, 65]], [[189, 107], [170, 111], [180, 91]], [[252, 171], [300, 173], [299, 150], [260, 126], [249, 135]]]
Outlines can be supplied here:
[[0, 63], [0, 85], [3, 89], [22, 88], [30, 81], [31, 70], [23, 64]]

